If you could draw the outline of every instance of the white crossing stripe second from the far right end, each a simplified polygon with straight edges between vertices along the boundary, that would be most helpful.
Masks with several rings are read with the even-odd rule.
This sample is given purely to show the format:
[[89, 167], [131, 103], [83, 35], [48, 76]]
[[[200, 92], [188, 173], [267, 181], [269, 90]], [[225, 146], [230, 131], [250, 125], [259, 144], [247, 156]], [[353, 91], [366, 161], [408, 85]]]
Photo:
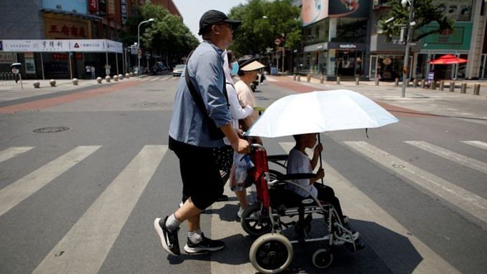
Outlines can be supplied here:
[[468, 168], [473, 168], [476, 171], [487, 173], [487, 164], [483, 161], [472, 159], [470, 157], [463, 156], [462, 154], [458, 154], [456, 152], [446, 150], [442, 147], [438, 147], [436, 145], [432, 145], [430, 143], [420, 140], [407, 140], [404, 141], [404, 143], [414, 145], [415, 147], [421, 148], [421, 150], [431, 152], [432, 154], [436, 154], [439, 157], [449, 159], [450, 161], [455, 161], [458, 164], [462, 164], [463, 166], [467, 166]]

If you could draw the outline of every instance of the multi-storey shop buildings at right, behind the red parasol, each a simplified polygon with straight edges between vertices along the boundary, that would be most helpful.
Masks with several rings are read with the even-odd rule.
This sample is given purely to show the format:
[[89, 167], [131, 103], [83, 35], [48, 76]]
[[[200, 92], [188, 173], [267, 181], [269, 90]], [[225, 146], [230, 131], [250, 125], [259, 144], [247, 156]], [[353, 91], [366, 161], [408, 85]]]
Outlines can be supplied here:
[[[486, 78], [486, 3], [484, 0], [435, 0], [444, 15], [455, 20], [453, 31], [423, 38], [411, 45], [409, 78]], [[295, 57], [295, 71], [334, 79], [360, 77], [373, 80], [402, 78], [405, 43], [387, 41], [379, 19], [390, 6], [385, 0], [303, 0], [304, 49]], [[393, 24], [393, 22], [391, 22]], [[430, 24], [424, 29], [435, 27]], [[468, 59], [467, 64], [430, 65], [445, 54]]]

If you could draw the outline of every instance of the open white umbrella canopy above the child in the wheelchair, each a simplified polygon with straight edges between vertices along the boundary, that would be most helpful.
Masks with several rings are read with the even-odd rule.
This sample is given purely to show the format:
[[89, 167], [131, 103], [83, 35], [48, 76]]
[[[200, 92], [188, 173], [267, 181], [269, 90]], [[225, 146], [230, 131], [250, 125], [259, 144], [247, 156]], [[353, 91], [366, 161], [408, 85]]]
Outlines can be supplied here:
[[399, 120], [362, 94], [337, 89], [294, 94], [278, 99], [264, 111], [246, 135], [274, 138], [376, 128], [395, 122]]

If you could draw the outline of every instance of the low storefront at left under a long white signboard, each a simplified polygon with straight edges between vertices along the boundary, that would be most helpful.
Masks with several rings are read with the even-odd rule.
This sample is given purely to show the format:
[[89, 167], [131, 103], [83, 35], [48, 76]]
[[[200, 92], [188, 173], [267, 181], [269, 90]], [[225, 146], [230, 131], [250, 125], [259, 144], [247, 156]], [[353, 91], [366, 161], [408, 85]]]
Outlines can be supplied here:
[[106, 64], [113, 68], [111, 75], [124, 68], [123, 57], [118, 55], [123, 53], [122, 43], [106, 39], [3, 40], [0, 45], [0, 65], [20, 62], [24, 79], [83, 78], [88, 65], [99, 76], [105, 75]]

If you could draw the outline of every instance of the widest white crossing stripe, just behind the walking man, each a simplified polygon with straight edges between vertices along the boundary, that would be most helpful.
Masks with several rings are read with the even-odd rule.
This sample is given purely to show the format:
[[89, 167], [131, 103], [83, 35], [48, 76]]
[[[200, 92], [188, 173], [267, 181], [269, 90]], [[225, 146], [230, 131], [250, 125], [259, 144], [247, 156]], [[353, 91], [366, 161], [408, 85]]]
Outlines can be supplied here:
[[33, 273], [97, 273], [166, 152], [144, 146]]

